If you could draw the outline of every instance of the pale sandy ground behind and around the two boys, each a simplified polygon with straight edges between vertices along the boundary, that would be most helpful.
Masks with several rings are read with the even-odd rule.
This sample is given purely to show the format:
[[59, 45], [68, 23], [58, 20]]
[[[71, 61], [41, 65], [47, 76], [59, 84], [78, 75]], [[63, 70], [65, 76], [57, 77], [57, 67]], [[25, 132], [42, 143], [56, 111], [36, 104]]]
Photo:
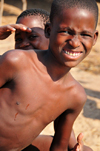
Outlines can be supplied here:
[[[99, 4], [98, 4], [99, 5]], [[3, 24], [14, 23], [16, 17], [3, 17]], [[99, 19], [100, 20], [100, 19]], [[97, 29], [100, 31], [100, 22]], [[71, 70], [73, 76], [85, 88], [87, 102], [74, 124], [76, 136], [83, 132], [84, 144], [94, 151], [100, 151], [100, 36], [90, 55], [76, 68]], [[0, 41], [0, 54], [14, 48], [14, 35]], [[79, 92], [80, 93], [80, 92]], [[52, 135], [53, 124], [49, 124], [42, 134]]]

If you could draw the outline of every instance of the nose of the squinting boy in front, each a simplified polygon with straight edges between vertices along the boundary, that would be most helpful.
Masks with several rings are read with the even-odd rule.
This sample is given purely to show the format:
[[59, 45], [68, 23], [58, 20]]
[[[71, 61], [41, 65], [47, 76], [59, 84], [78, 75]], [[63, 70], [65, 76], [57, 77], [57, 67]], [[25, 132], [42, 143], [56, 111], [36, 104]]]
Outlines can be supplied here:
[[78, 36], [73, 36], [70, 40], [69, 40], [69, 45], [73, 48], [77, 48], [80, 46], [80, 40], [78, 38]]

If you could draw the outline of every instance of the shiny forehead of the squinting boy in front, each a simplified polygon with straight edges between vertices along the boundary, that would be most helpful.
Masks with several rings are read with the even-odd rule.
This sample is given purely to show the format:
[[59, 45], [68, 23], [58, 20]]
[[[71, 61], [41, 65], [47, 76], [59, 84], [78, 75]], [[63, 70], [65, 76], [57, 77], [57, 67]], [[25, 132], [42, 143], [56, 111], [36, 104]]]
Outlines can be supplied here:
[[[77, 7], [72, 7], [67, 9], [64, 8], [63, 10], [61, 10], [61, 12], [59, 12], [58, 16], [55, 16], [54, 19], [55, 22], [56, 19], [59, 20], [60, 22], [66, 22], [66, 23], [82, 22], [84, 25], [88, 23], [88, 24], [92, 24], [94, 28], [96, 24], [95, 16], [91, 11], [89, 11], [88, 9], [77, 8]], [[83, 19], [86, 22], [83, 22]], [[92, 23], [91, 20], [93, 21]]]

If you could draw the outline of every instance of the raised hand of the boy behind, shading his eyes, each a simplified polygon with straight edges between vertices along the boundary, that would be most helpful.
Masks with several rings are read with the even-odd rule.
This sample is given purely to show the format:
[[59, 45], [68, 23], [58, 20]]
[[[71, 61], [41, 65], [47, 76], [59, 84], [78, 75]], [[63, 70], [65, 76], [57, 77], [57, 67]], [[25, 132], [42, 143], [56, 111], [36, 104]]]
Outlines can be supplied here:
[[0, 40], [6, 39], [16, 30], [31, 32], [32, 30], [23, 24], [9, 24], [0, 27]]

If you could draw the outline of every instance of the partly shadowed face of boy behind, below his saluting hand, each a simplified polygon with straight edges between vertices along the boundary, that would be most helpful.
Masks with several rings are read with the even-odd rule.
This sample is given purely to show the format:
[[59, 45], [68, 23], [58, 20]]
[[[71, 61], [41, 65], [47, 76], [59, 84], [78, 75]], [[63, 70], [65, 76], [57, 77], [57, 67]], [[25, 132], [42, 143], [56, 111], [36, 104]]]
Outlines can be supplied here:
[[49, 40], [44, 34], [44, 25], [40, 16], [27, 16], [19, 18], [18, 24], [24, 24], [32, 29], [31, 33], [17, 30], [15, 33], [15, 48], [16, 49], [48, 49]]

